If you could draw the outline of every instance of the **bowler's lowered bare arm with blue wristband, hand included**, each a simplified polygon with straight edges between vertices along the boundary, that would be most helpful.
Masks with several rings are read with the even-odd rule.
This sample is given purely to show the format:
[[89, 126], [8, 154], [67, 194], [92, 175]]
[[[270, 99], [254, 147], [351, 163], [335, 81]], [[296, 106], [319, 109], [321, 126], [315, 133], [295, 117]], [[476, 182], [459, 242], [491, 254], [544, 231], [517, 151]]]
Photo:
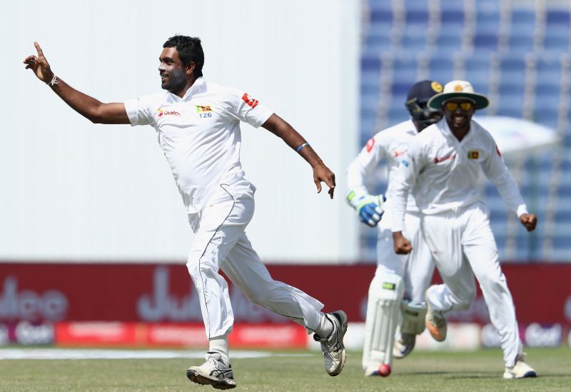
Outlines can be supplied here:
[[[298, 134], [298, 131], [295, 131], [290, 124], [281, 119], [277, 114], [272, 114], [262, 126], [272, 134], [283, 139], [285, 144], [294, 150], [297, 150], [306, 143], [303, 136]], [[333, 198], [333, 191], [335, 191], [335, 174], [333, 174], [333, 171], [330, 171], [329, 168], [325, 166], [311, 146], [303, 146], [298, 153], [305, 161], [308, 161], [308, 164], [313, 168], [313, 182], [315, 182], [315, 186], [317, 186], [317, 192], [319, 193], [321, 191], [321, 181], [323, 181], [329, 187], [329, 196]]]

